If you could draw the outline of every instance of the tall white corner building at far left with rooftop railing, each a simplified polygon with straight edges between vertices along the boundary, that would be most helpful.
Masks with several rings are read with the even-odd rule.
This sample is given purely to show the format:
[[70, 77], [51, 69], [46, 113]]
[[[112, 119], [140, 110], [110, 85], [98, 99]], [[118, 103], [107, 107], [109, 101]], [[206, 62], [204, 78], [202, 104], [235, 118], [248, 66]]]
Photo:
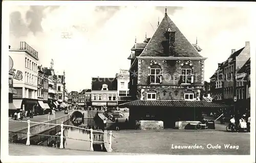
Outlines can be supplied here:
[[13, 95], [13, 104], [22, 111], [37, 107], [37, 64], [38, 52], [26, 42], [20, 42], [19, 49], [9, 49], [9, 56], [13, 60], [10, 72], [14, 73], [13, 87], [17, 94]]

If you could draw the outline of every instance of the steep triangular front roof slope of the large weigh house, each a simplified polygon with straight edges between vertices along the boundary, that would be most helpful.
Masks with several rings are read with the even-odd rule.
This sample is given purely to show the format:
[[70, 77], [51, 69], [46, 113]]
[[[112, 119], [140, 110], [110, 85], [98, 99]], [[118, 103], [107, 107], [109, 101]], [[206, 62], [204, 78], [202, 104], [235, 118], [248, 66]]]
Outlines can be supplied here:
[[[185, 38], [180, 32], [174, 22], [165, 14], [160, 25], [152, 36], [151, 40], [147, 43], [144, 51], [140, 56], [169, 56], [164, 54], [164, 49], [167, 47], [168, 42], [165, 33], [167, 29], [175, 31], [175, 42], [174, 42], [174, 56], [177, 57], [202, 57], [194, 46]], [[168, 45], [167, 45], [168, 46]]]

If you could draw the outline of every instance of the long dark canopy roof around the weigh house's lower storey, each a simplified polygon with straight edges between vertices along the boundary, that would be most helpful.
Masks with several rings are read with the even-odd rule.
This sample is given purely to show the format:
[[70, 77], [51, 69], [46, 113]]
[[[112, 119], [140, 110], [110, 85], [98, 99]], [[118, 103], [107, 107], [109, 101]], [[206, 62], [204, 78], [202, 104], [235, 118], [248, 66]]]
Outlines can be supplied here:
[[206, 101], [174, 101], [174, 100], [135, 100], [120, 104], [119, 106], [156, 106], [156, 107], [211, 107], [227, 108], [224, 104]]

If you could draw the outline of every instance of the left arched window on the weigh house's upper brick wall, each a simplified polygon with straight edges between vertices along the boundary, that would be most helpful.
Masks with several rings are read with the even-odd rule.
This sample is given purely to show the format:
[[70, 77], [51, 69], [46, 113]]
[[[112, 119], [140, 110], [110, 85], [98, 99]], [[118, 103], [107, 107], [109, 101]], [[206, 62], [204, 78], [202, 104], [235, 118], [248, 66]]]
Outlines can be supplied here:
[[153, 64], [150, 68], [150, 83], [160, 84], [162, 83], [161, 66]]

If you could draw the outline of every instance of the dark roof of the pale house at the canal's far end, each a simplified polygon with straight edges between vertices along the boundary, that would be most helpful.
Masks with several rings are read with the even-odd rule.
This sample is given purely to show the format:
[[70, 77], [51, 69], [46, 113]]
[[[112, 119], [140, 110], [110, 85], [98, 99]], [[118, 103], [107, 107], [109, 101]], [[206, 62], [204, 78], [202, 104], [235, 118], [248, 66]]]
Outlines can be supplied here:
[[109, 90], [117, 90], [116, 78], [92, 78], [92, 90], [101, 90], [103, 84], [108, 85]]

